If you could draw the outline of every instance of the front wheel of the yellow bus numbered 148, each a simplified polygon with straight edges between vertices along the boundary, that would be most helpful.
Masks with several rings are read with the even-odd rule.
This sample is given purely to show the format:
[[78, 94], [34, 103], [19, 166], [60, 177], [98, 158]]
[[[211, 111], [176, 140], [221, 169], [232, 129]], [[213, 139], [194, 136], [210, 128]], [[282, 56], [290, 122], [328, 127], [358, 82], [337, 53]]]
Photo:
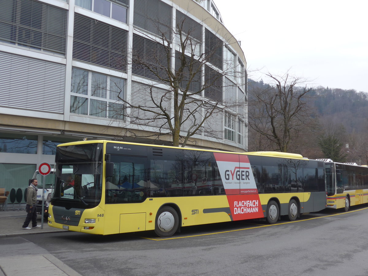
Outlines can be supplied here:
[[179, 216], [174, 208], [163, 206], [159, 209], [155, 221], [155, 233], [162, 238], [171, 237], [179, 226]]

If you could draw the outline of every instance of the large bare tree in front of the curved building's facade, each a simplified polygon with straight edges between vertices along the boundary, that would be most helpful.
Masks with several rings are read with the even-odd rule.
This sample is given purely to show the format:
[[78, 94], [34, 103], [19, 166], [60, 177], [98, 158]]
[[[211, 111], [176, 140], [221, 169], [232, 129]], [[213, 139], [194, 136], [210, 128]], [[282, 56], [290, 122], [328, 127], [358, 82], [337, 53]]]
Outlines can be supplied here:
[[[245, 96], [237, 92], [236, 84], [240, 79], [245, 84], [244, 66], [241, 68], [238, 60], [223, 66], [224, 42], [206, 30], [203, 47], [202, 26], [184, 14], [177, 13], [174, 29], [152, 22], [161, 30], [160, 36], [135, 33], [131, 63], [133, 74], [151, 81], [137, 88], [132, 84], [142, 97], [139, 100], [127, 99], [116, 91], [124, 105], [114, 110], [114, 119], [124, 116], [119, 122], [130, 136], [160, 139], [171, 135], [173, 146], [185, 146], [191, 137], [202, 133], [222, 138], [223, 127], [219, 133], [205, 122], [215, 116], [222, 118], [225, 110], [244, 114]], [[233, 92], [233, 96], [224, 97], [223, 90]], [[142, 134], [131, 125], [151, 131]], [[155, 127], [148, 127], [152, 125]]]

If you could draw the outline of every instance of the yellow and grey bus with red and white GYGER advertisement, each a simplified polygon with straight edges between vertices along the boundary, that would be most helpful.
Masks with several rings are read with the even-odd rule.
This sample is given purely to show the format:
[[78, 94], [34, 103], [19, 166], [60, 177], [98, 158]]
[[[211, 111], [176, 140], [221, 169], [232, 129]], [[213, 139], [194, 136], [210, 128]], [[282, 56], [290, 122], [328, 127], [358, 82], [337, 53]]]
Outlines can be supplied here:
[[326, 206], [324, 162], [291, 153], [81, 141], [57, 146], [55, 174], [48, 225], [91, 234], [170, 237], [183, 226], [276, 223]]

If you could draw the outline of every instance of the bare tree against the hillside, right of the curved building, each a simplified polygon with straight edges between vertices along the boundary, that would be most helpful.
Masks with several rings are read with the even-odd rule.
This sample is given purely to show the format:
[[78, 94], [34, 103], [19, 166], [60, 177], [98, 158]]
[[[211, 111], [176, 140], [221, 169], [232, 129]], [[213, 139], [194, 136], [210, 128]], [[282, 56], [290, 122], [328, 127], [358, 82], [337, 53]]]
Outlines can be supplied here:
[[274, 146], [272, 150], [287, 152], [313, 115], [305, 101], [311, 88], [301, 86], [307, 82], [305, 79], [289, 73], [266, 76], [271, 80], [269, 86], [250, 91], [249, 125]]

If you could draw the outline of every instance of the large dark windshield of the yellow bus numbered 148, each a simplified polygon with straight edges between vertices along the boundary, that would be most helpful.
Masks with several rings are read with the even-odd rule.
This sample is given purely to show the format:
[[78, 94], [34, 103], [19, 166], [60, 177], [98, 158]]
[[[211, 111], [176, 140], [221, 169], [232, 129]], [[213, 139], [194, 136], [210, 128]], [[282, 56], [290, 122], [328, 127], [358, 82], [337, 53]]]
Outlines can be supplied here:
[[102, 144], [60, 146], [56, 151], [52, 204], [93, 208], [101, 201]]

